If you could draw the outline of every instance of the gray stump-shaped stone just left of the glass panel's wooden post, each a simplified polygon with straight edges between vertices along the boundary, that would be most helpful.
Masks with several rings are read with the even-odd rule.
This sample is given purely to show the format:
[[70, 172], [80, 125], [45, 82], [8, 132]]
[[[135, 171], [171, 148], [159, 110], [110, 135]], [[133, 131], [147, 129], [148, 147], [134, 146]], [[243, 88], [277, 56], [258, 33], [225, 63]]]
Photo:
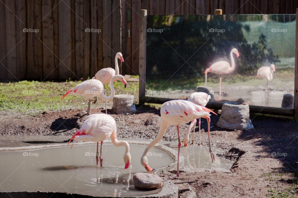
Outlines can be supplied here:
[[134, 96], [127, 94], [115, 95], [113, 98], [112, 111], [115, 114], [133, 114], [136, 110]]

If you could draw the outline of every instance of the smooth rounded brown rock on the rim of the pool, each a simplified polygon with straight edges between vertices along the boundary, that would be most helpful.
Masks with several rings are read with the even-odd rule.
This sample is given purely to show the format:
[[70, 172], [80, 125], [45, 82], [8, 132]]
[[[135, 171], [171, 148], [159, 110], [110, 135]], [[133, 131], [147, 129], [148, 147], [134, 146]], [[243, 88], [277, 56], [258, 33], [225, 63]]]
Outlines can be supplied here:
[[149, 173], [136, 173], [133, 175], [133, 183], [135, 188], [155, 189], [163, 186], [159, 176]]

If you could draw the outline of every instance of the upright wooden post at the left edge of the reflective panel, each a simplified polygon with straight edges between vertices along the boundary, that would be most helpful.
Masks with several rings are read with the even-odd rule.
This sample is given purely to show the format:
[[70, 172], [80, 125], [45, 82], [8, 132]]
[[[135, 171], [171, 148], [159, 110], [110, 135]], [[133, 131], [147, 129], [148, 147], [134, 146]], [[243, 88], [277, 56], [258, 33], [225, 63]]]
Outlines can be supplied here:
[[147, 10], [140, 11], [140, 39], [139, 39], [139, 105], [144, 104], [146, 82], [146, 32]]

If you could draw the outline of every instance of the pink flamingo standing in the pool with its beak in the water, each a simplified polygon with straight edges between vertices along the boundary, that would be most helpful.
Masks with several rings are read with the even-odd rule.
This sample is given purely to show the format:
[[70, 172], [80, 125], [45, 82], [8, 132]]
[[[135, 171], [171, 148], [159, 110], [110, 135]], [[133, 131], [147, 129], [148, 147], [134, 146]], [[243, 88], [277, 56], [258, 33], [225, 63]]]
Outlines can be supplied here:
[[[125, 153], [123, 156], [125, 169], [129, 168], [131, 156], [129, 153], [129, 144], [124, 140], [117, 140], [117, 127], [116, 122], [113, 117], [107, 114], [92, 114], [87, 117], [82, 127], [72, 136], [68, 142], [74, 139], [72, 146], [75, 142], [97, 142], [96, 150], [96, 165], [98, 166], [98, 161], [100, 160], [100, 166], [102, 167], [102, 144], [103, 141], [111, 137], [114, 146], [124, 146]], [[100, 142], [100, 155], [98, 153], [98, 142]], [[67, 145], [68, 145], [67, 144]], [[98, 158], [99, 155], [99, 158]]]

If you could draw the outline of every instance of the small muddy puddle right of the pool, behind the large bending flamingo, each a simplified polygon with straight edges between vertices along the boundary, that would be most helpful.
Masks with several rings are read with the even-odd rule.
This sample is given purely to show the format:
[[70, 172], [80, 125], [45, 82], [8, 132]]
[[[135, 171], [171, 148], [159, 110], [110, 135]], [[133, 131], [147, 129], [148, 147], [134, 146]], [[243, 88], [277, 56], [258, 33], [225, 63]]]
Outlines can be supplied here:
[[[177, 143], [165, 144], [178, 151]], [[181, 147], [180, 152], [184, 157], [184, 166], [188, 168], [224, 168], [229, 170], [233, 161], [224, 159], [223, 157], [218, 157], [219, 153], [223, 151], [221, 149], [212, 148], [215, 156], [215, 161], [211, 161], [209, 147], [208, 146], [198, 146], [198, 145], [188, 145], [188, 147]]]

